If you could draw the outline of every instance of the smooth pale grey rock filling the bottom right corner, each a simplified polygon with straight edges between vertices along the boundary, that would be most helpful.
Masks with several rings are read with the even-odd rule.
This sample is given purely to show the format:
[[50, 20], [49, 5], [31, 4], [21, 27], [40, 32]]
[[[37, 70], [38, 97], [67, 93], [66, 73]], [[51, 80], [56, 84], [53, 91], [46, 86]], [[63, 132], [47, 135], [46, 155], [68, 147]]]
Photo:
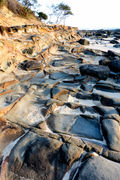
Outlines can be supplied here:
[[93, 156], [86, 160], [75, 176], [78, 180], [119, 180], [120, 165], [100, 156]]

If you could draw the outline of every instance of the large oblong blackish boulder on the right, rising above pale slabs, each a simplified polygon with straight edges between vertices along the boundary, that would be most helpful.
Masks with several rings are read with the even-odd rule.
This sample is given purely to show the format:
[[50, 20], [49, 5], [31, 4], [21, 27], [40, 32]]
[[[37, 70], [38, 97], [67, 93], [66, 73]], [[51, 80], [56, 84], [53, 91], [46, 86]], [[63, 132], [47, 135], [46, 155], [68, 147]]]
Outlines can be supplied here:
[[110, 70], [106, 66], [86, 64], [80, 67], [80, 73], [82, 75], [90, 75], [99, 79], [107, 79]]

